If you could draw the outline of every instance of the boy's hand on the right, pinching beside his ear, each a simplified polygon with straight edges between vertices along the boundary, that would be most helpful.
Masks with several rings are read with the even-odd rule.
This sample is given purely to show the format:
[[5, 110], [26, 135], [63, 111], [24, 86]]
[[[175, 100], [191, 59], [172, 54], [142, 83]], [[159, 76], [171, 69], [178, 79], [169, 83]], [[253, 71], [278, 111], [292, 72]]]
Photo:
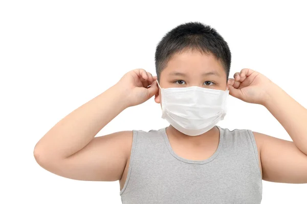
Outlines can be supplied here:
[[252, 69], [242, 69], [228, 80], [229, 94], [247, 103], [264, 105], [276, 84]]

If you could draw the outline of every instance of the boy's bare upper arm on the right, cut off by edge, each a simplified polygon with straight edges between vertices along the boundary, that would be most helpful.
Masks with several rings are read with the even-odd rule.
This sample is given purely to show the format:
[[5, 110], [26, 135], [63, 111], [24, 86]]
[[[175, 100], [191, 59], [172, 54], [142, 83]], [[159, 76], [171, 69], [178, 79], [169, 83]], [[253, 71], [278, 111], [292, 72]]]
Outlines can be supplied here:
[[260, 144], [262, 179], [277, 183], [307, 183], [307, 155], [293, 141], [253, 132]]

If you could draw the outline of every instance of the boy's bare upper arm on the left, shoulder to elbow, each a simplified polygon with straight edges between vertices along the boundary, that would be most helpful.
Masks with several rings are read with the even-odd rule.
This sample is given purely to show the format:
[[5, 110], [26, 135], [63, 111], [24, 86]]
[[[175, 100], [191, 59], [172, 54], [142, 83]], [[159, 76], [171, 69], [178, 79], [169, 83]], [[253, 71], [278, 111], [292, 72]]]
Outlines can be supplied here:
[[75, 154], [60, 161], [40, 161], [40, 166], [57, 175], [83, 181], [121, 179], [133, 141], [132, 131], [94, 137]]

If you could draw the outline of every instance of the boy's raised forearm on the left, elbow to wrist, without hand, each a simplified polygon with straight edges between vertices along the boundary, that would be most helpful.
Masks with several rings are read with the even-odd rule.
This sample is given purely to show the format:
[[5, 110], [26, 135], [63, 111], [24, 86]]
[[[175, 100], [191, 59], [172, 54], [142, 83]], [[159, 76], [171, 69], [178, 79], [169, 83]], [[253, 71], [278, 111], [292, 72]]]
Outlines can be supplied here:
[[96, 134], [127, 108], [125, 93], [115, 86], [83, 104], [55, 124], [35, 146], [48, 159], [63, 159], [86, 146]]

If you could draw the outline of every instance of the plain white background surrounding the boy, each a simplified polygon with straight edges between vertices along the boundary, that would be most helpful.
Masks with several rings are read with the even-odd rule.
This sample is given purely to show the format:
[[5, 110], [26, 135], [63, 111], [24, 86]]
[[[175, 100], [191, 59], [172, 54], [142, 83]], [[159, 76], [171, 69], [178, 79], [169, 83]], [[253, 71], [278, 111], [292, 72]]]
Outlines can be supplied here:
[[[225, 38], [231, 77], [242, 68], [257, 70], [307, 107], [305, 7], [294, 1], [212, 2], [1, 1], [0, 203], [121, 203], [118, 182], [50, 173], [35, 162], [34, 146], [129, 70], [156, 74], [159, 40], [184, 22], [209, 24]], [[166, 125], [151, 98], [126, 109], [97, 136]], [[291, 140], [265, 107], [232, 96], [218, 125]], [[262, 182], [261, 203], [307, 203], [307, 184]]]

